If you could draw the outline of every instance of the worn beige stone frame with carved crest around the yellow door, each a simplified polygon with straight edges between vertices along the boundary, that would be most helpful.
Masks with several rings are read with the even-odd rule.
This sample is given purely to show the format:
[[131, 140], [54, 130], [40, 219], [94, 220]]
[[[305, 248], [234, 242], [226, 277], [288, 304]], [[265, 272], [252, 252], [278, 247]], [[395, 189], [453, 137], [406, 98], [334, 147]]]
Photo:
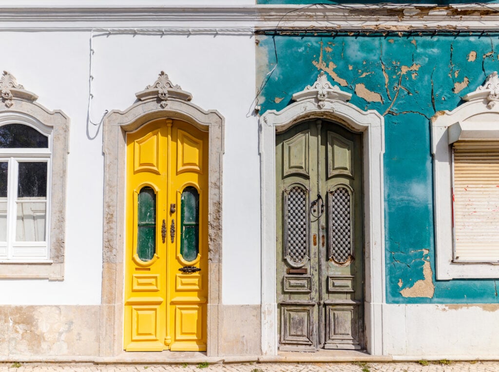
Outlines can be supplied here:
[[124, 111], [110, 111], [103, 121], [104, 236], [99, 354], [124, 353], [126, 134], [164, 118], [182, 120], [209, 133], [207, 356], [218, 356], [223, 327], [220, 307], [224, 117], [216, 110], [205, 111], [191, 103], [192, 95], [172, 84], [163, 71], [136, 96], [136, 103]]

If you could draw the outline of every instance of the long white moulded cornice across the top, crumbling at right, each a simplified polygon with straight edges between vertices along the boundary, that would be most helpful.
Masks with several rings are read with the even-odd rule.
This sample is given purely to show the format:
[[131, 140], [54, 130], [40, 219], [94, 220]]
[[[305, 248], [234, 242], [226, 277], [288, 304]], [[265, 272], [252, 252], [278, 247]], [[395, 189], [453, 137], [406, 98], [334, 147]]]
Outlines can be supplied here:
[[[492, 10], [492, 11], [491, 11]], [[141, 1], [89, 1], [88, 4], [40, 1], [0, 5], [0, 30], [95, 27], [257, 27], [279, 30], [407, 31], [497, 30], [499, 4], [315, 4], [315, 5], [164, 5]], [[77, 22], [75, 22], [77, 20]], [[22, 25], [22, 26], [20, 26]], [[20, 27], [20, 28], [19, 28]], [[237, 31], [237, 30], [236, 30]]]

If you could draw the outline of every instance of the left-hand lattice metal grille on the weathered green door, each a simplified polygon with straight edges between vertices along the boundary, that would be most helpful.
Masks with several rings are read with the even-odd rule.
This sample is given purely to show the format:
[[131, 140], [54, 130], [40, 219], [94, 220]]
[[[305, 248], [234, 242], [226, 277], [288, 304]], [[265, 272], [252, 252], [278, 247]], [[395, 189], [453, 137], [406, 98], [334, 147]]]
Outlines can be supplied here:
[[295, 263], [307, 255], [306, 194], [301, 187], [289, 190], [286, 199], [286, 254]]

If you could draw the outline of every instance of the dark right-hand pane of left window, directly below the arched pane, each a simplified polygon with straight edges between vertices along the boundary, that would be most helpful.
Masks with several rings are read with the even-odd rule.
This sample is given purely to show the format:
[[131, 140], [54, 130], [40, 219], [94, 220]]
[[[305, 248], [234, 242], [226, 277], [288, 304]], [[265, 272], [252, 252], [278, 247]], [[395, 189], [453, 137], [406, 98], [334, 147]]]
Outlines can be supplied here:
[[20, 162], [17, 198], [47, 196], [47, 163]]

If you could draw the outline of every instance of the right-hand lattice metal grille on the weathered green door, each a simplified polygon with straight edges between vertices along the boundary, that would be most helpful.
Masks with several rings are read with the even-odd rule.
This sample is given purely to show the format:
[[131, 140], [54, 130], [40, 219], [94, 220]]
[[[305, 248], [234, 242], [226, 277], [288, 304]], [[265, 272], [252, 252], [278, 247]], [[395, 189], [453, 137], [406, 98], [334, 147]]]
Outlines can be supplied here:
[[339, 187], [330, 193], [330, 249], [329, 257], [337, 263], [348, 261], [351, 253], [350, 193]]

